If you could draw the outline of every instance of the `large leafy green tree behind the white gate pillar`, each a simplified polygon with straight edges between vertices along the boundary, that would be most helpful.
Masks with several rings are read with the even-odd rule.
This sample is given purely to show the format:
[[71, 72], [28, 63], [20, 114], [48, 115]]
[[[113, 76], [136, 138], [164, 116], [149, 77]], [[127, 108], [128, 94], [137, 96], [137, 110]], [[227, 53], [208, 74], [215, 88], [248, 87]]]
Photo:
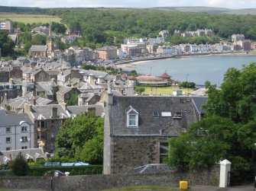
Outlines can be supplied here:
[[256, 63], [252, 62], [241, 70], [229, 68], [220, 88], [206, 82], [207, 116], [170, 140], [167, 163], [205, 168], [226, 158], [232, 161], [232, 183], [251, 180], [256, 161], [255, 81]]

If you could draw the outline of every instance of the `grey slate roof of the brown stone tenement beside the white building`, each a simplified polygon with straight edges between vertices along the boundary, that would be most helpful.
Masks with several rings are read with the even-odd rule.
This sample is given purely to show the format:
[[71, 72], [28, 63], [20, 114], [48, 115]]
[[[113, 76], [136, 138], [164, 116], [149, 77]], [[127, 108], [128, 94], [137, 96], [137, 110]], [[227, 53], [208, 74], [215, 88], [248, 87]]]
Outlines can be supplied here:
[[38, 119], [38, 117], [43, 116], [44, 119], [52, 119], [51, 112], [52, 108], [57, 107], [57, 115], [59, 118], [68, 118], [66, 111], [63, 110], [59, 104], [51, 104], [51, 105], [44, 105], [44, 106], [32, 106], [32, 115], [34, 119]]

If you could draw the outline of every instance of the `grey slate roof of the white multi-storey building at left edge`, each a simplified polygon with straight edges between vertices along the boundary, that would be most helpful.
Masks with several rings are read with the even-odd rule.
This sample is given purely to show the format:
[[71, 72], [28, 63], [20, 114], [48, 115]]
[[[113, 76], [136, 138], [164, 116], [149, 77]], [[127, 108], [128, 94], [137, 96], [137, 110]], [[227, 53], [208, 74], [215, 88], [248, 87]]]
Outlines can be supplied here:
[[26, 113], [6, 114], [0, 112], [0, 119], [0, 126], [19, 126], [21, 121], [25, 121], [31, 125], [34, 124]]

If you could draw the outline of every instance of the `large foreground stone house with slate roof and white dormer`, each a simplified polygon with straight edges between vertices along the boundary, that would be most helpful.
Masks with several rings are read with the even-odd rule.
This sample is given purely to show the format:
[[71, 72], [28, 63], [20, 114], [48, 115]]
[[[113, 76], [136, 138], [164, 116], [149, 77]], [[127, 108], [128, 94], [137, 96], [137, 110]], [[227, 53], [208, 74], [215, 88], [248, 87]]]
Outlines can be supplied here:
[[110, 84], [106, 94], [105, 174], [162, 163], [167, 156], [168, 139], [186, 132], [190, 124], [199, 120], [193, 97], [117, 96]]

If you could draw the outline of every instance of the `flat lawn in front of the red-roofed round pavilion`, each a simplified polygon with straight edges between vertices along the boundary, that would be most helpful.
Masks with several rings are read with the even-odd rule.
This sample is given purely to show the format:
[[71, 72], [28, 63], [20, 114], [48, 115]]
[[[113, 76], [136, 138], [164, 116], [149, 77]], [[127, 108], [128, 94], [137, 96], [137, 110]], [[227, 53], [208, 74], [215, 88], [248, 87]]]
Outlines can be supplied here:
[[[144, 87], [145, 91], [142, 94], [151, 94], [151, 87]], [[176, 91], [177, 89], [180, 89], [183, 91], [183, 94], [186, 94], [188, 91], [191, 93], [193, 90], [188, 88], [178, 88], [178, 87], [164, 87], [164, 88], [152, 88], [152, 94], [153, 95], [173, 95], [173, 91]]]

